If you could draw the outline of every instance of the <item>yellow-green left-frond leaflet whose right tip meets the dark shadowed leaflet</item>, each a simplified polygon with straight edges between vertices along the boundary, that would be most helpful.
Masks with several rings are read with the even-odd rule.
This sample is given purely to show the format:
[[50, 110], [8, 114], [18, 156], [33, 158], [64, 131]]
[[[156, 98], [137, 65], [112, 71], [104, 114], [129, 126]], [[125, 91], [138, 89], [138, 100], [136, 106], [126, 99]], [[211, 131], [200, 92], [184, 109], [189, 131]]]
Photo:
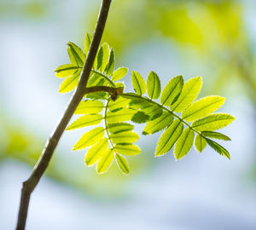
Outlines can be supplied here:
[[108, 112], [107, 121], [108, 123], [119, 123], [124, 121], [130, 121], [135, 111], [124, 108], [118, 112]]

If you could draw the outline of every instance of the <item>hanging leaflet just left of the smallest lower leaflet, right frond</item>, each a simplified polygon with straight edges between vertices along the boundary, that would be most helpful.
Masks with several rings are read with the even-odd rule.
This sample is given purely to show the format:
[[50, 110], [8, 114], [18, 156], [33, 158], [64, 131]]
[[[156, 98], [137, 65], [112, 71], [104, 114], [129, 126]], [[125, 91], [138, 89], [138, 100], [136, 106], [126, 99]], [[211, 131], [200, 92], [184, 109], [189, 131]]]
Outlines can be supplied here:
[[176, 159], [183, 158], [189, 152], [194, 142], [194, 131], [189, 127], [184, 129], [183, 134], [177, 139], [174, 146], [174, 156]]

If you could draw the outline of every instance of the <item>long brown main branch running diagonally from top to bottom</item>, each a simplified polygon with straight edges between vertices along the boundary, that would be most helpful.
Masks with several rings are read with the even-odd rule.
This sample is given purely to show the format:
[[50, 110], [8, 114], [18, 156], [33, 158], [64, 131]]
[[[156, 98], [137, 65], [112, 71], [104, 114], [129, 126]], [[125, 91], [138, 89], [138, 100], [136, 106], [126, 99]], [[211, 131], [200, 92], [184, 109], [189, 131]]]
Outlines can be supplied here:
[[38, 159], [37, 164], [32, 171], [32, 175], [23, 182], [23, 187], [21, 190], [21, 198], [20, 198], [20, 210], [19, 216], [17, 221], [17, 230], [25, 229], [26, 225], [26, 216], [27, 216], [27, 209], [31, 197], [31, 193], [34, 188], [38, 185], [38, 181], [44, 174], [44, 171], [47, 169], [50, 158], [55, 151], [55, 147], [57, 146], [58, 142], [61, 139], [61, 135], [63, 134], [64, 130], [67, 127], [70, 119], [73, 116], [73, 112], [79, 105], [79, 102], [82, 100], [84, 96], [84, 88], [88, 82], [90, 76], [90, 70], [92, 68], [93, 62], [96, 58], [97, 50], [99, 49], [99, 45], [102, 40], [102, 33], [104, 31], [104, 27], [106, 25], [106, 20], [108, 18], [108, 11], [111, 4], [111, 0], [102, 0], [102, 6], [99, 13], [99, 17], [96, 24], [96, 30], [94, 36], [92, 38], [92, 42], [90, 44], [90, 50], [88, 52], [86, 61], [84, 63], [83, 70], [81, 72], [79, 78], [79, 84], [77, 89], [75, 90], [71, 101], [69, 101], [66, 111], [62, 115], [61, 121], [55, 128], [53, 134], [49, 137], [49, 140], [46, 142], [44, 146], [44, 150], [41, 153], [40, 158]]

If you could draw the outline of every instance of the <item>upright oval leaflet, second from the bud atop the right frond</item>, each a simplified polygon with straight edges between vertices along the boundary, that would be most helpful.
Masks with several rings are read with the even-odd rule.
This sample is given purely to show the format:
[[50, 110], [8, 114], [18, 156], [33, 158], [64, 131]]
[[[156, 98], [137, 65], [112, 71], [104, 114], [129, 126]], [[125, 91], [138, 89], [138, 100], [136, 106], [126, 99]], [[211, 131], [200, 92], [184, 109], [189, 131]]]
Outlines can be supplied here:
[[158, 99], [161, 93], [160, 79], [155, 72], [149, 72], [147, 79], [147, 92], [150, 99]]

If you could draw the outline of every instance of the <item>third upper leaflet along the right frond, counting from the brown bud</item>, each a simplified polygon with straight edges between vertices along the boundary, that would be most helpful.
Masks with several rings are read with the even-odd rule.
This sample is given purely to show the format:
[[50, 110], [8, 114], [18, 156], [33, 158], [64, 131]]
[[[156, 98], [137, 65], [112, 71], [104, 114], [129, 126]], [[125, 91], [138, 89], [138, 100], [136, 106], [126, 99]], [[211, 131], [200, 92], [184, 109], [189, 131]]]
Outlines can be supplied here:
[[172, 78], [161, 93], [160, 102], [163, 106], [171, 106], [172, 101], [180, 95], [183, 89], [183, 76]]

